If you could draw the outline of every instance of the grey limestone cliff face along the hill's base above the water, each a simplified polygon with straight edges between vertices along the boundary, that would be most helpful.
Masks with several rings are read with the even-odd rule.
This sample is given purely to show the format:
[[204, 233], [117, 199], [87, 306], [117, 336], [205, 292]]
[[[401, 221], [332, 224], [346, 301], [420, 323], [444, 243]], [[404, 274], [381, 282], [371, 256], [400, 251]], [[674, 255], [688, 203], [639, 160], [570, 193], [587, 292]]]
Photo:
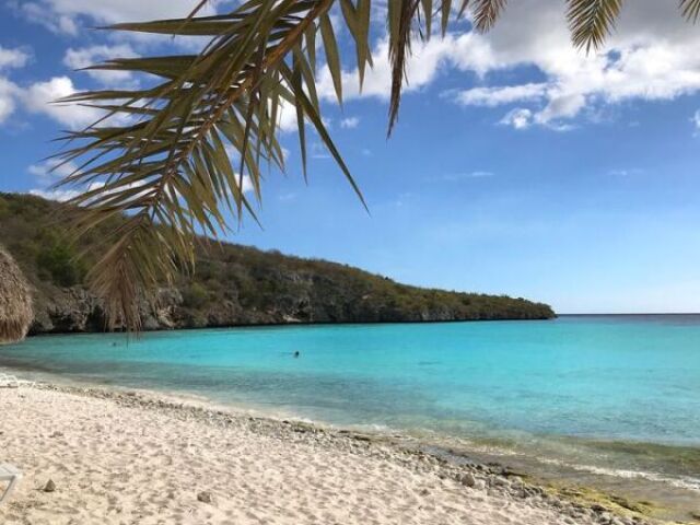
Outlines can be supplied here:
[[[242, 304], [236, 290], [222, 301], [189, 305], [178, 288], [163, 288], [154, 301], [140, 302], [144, 330], [225, 327], [238, 325], [310, 323], [405, 323], [479, 319], [549, 318], [549, 307], [523, 308], [518, 300], [510, 311], [464, 310], [445, 304], [399, 306], [381, 294], [345, 288], [327, 276], [280, 273], [291, 283], [264, 305]], [[54, 289], [47, 296], [34, 290], [36, 317], [31, 334], [103, 331], [106, 319], [102, 300], [82, 287]], [[446, 292], [443, 292], [446, 293]], [[499, 298], [501, 299], [501, 298]], [[522, 301], [522, 300], [521, 300]], [[532, 303], [529, 303], [532, 304]], [[521, 305], [522, 306], [522, 305]]]

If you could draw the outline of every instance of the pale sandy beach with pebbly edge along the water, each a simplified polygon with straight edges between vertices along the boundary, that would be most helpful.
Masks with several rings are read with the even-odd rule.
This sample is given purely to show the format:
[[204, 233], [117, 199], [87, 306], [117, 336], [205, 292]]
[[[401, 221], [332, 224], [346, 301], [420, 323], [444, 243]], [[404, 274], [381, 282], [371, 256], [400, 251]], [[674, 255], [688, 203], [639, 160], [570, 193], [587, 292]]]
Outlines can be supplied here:
[[156, 393], [2, 388], [0, 413], [0, 463], [25, 475], [3, 524], [645, 523], [498, 467]]

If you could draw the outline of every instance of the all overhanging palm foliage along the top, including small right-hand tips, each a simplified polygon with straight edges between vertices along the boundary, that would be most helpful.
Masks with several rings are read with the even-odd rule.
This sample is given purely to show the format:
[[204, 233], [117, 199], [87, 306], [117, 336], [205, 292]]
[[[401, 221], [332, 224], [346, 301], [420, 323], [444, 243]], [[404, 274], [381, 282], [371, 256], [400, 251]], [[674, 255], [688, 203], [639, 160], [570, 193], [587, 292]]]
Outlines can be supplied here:
[[[622, 0], [563, 0], [573, 45], [599, 47], [611, 31]], [[380, 2], [376, 2], [377, 4]], [[78, 93], [66, 101], [103, 108], [105, 118], [70, 132], [61, 154], [78, 170], [63, 184], [88, 188], [72, 203], [86, 209], [79, 232], [115, 214], [128, 221], [105, 240], [107, 249], [89, 275], [105, 298], [113, 326], [139, 328], [137, 296], [178, 269], [194, 265], [195, 233], [215, 236], [225, 211], [255, 217], [244, 192], [252, 183], [261, 195], [261, 164], [284, 168], [278, 141], [284, 107], [295, 108], [301, 162], [306, 132], [318, 135], [360, 199], [350, 170], [320, 115], [316, 93], [317, 51], [324, 57], [338, 102], [342, 102], [341, 52], [331, 10], [352, 35], [362, 85], [372, 67], [370, 26], [385, 20], [392, 65], [390, 135], [399, 110], [411, 42], [445, 35], [451, 20], [468, 16], [486, 32], [506, 0], [247, 0], [232, 11], [199, 16], [206, 0], [180, 20], [117, 24], [114, 31], [206, 38], [197, 55], [114, 59], [95, 66], [143, 73], [142, 89]], [[682, 16], [697, 20], [700, 0], [680, 0]], [[342, 57], [345, 59], [345, 57]], [[320, 62], [318, 62], [320, 63]], [[235, 151], [236, 165], [230, 161]]]

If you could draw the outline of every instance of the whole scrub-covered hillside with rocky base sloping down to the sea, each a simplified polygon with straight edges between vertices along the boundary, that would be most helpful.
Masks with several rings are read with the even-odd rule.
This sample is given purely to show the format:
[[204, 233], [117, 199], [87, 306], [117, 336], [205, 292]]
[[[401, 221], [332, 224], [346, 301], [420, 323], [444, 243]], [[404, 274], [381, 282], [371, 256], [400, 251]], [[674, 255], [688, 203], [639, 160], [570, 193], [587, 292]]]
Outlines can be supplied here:
[[[32, 334], [101, 331], [101, 302], [86, 291], [83, 280], [98, 256], [95, 240], [119, 221], [71, 246], [56, 213], [60, 207], [38, 197], [0, 194], [0, 244], [14, 256], [34, 288]], [[79, 260], [77, 254], [85, 249], [89, 255]], [[521, 298], [409, 287], [347, 265], [234, 244], [201, 247], [197, 260], [196, 275], [161, 289], [155, 307], [143, 301], [145, 329], [541, 319], [555, 315], [548, 305]]]

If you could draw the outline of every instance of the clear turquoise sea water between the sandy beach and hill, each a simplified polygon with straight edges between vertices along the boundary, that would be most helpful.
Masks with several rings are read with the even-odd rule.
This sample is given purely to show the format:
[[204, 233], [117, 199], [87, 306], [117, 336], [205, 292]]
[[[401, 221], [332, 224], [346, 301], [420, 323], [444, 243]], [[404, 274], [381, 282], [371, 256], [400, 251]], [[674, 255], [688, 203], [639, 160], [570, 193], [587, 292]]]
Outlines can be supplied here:
[[700, 488], [700, 316], [48, 336], [0, 366]]

